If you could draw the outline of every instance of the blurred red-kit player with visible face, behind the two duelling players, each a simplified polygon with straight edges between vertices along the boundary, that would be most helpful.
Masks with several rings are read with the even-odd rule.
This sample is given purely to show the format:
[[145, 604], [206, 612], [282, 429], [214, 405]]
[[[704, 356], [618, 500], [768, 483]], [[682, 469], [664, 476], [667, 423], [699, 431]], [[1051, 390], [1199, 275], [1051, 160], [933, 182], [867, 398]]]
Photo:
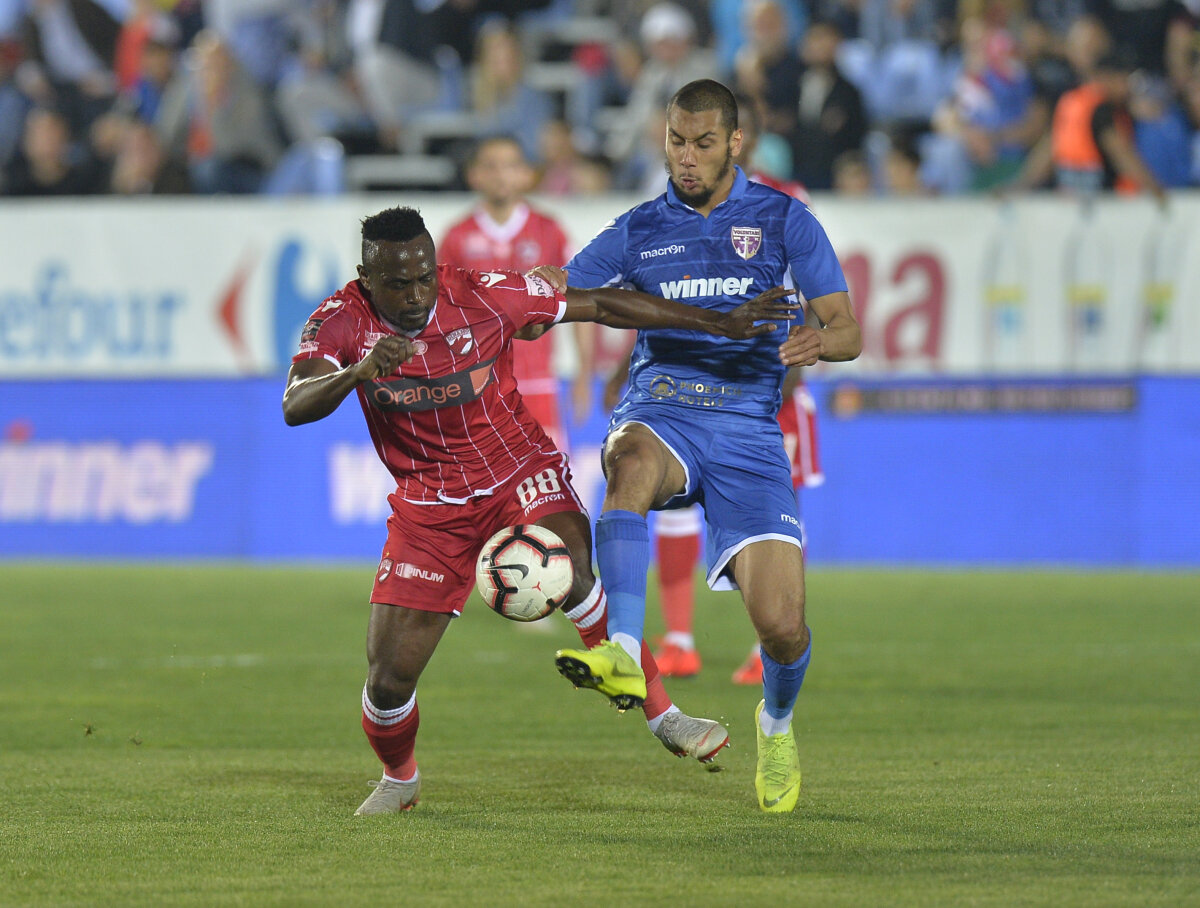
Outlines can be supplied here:
[[[533, 185], [533, 168], [511, 137], [484, 139], [467, 164], [467, 185], [479, 204], [455, 223], [438, 245], [438, 261], [475, 271], [528, 271], [538, 265], [562, 266], [571, 257], [566, 233], [558, 222], [532, 208], [524, 193]], [[592, 405], [592, 325], [570, 325], [578, 371], [571, 387], [577, 417]], [[558, 407], [554, 338], [516, 344], [512, 374], [526, 408], [563, 450], [568, 440]]]

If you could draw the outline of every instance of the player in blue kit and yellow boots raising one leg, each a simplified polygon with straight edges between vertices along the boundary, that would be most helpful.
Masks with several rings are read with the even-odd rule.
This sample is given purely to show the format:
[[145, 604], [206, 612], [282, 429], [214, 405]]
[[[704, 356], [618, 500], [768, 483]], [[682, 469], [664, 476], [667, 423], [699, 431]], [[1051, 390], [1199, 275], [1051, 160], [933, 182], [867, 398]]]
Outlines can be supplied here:
[[618, 706], [644, 696], [646, 515], [701, 503], [708, 584], [740, 589], [762, 644], [755, 789], [758, 806], [775, 812], [799, 795], [792, 709], [811, 653], [800, 523], [775, 421], [780, 386], [788, 366], [854, 359], [862, 333], [821, 224], [804, 203], [749, 181], [733, 164], [740, 146], [730, 90], [710, 79], [682, 88], [667, 106], [666, 193], [610, 222], [568, 263], [570, 283], [625, 284], [721, 311], [792, 287], [821, 324], [751, 341], [638, 332], [605, 439], [595, 531], [610, 639], [559, 650], [557, 666]]

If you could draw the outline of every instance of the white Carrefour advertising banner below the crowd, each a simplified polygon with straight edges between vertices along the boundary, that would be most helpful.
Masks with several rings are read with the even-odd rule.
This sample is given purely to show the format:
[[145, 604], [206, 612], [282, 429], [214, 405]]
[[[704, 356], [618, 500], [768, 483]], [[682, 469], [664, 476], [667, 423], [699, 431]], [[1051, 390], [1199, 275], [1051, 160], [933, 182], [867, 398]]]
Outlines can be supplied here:
[[[401, 202], [420, 208], [436, 240], [472, 204], [8, 203], [0, 377], [276, 374], [306, 317], [354, 278], [361, 218]], [[580, 246], [637, 202], [539, 204]], [[816, 374], [1200, 372], [1200, 199], [1175, 197], [1160, 210], [1139, 199], [827, 197], [814, 211], [865, 342], [858, 361]], [[668, 258], [678, 278], [664, 295], [696, 277], [685, 249]]]

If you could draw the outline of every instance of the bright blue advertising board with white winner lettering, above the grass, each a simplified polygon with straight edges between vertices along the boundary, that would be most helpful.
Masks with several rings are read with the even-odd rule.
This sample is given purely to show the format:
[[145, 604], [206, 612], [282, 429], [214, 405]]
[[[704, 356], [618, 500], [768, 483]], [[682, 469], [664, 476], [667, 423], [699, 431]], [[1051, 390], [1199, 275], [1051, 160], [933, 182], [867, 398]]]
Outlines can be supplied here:
[[[0, 557], [373, 560], [395, 488], [354, 398], [282, 380], [10, 381]], [[1200, 379], [815, 380], [814, 564], [1200, 565]], [[572, 427], [602, 493], [605, 417]]]

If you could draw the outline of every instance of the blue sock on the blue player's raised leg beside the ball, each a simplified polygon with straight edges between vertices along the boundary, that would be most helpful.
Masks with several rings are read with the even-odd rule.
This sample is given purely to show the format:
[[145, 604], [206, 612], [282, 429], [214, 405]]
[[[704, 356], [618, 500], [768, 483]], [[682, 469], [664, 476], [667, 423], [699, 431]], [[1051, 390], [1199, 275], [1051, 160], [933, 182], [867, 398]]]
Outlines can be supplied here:
[[608, 596], [608, 639], [624, 633], [641, 645], [646, 625], [646, 572], [650, 566], [650, 534], [646, 518], [632, 511], [600, 515], [596, 566]]

